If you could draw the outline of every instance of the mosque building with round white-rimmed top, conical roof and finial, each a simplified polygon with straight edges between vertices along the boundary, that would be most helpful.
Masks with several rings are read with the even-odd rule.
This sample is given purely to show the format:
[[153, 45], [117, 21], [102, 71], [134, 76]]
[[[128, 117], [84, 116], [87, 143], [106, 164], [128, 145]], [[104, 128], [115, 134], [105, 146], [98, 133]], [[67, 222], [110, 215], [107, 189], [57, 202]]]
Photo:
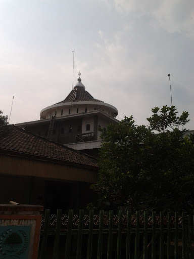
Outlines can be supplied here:
[[40, 120], [17, 123], [16, 126], [97, 156], [101, 147], [101, 133], [108, 124], [118, 122], [117, 115], [118, 110], [114, 106], [94, 99], [85, 91], [79, 77], [63, 101], [41, 110]]

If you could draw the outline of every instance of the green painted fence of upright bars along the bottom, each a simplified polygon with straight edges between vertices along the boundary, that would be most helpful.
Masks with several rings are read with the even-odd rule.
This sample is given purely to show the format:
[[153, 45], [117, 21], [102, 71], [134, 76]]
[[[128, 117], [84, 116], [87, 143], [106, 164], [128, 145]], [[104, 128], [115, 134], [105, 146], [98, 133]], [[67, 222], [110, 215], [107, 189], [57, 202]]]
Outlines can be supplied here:
[[112, 210], [70, 209], [57, 215], [46, 209], [39, 258], [43, 259], [191, 259], [194, 258], [193, 215], [182, 212], [115, 215]]

